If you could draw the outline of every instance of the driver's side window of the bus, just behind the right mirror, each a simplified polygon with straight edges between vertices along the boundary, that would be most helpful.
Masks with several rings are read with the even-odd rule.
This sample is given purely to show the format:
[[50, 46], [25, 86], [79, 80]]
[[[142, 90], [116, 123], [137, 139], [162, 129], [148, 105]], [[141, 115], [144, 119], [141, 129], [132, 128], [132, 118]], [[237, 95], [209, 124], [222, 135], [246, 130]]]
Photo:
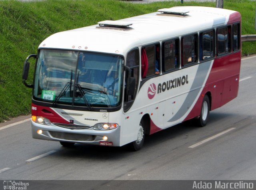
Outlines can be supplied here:
[[[128, 92], [125, 89], [125, 94], [124, 94], [124, 101], [132, 101], [135, 99], [135, 95], [138, 89], [138, 79], [139, 79], [139, 65], [140, 63], [140, 59], [139, 59], [139, 49], [132, 49], [128, 54], [127, 54], [127, 59], [126, 59], [126, 66], [129, 67], [131, 69], [131, 77], [133, 77], [135, 79], [135, 89], [134, 89], [134, 94], [131, 95], [128, 98]], [[128, 73], [126, 71], [126, 78], [125, 78], [125, 82], [127, 82], [128, 80]], [[126, 88], [126, 86], [125, 86]]]

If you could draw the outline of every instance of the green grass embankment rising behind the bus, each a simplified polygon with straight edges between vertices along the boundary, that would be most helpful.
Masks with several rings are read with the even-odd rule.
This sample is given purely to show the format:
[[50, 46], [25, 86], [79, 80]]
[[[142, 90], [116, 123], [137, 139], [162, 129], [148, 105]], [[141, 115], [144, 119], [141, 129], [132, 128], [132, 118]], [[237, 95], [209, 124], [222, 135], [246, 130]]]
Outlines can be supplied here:
[[[30, 113], [31, 89], [22, 84], [23, 62], [37, 52], [46, 37], [63, 30], [118, 20], [172, 6], [215, 6], [204, 2], [131, 4], [115, 0], [0, 1], [0, 122]], [[254, 30], [255, 2], [225, 0], [224, 8], [242, 14], [242, 34]], [[244, 43], [243, 54], [256, 53], [256, 43]], [[33, 63], [30, 69], [30, 81]]]

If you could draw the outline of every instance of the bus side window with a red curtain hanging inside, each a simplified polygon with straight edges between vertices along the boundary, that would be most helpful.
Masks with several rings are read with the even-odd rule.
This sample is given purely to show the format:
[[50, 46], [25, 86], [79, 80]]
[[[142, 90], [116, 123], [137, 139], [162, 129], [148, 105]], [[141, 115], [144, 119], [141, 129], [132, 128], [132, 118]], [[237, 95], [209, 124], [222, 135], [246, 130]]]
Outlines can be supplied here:
[[[146, 66], [144, 66], [144, 64], [146, 64]], [[145, 69], [147, 69], [146, 72]], [[150, 77], [155, 74], [160, 74], [160, 44], [142, 48], [142, 78]]]

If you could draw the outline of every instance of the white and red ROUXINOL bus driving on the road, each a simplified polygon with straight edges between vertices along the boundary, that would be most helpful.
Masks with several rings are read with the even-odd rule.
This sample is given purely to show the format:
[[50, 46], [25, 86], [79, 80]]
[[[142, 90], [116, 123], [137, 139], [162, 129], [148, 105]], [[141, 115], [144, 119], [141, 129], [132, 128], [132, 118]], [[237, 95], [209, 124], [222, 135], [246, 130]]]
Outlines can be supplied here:
[[240, 26], [239, 12], [184, 6], [53, 34], [24, 63], [33, 138], [139, 150], [144, 135], [206, 125], [238, 94]]

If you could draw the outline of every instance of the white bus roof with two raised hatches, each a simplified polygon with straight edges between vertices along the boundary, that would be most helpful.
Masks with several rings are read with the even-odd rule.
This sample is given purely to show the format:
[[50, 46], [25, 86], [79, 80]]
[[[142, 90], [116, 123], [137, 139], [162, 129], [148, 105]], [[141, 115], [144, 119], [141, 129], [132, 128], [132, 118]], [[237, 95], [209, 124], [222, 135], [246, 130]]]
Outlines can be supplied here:
[[[161, 12], [118, 20], [119, 23], [129, 23], [128, 26], [115, 28], [110, 25], [98, 24], [59, 32], [46, 38], [39, 48], [86, 50], [126, 55], [128, 50], [136, 46], [228, 24], [230, 19], [240, 21], [238, 12], [220, 8], [182, 6], [168, 10], [176, 13], [163, 13], [162, 10], [159, 10]], [[177, 12], [185, 14], [177, 15]]]

